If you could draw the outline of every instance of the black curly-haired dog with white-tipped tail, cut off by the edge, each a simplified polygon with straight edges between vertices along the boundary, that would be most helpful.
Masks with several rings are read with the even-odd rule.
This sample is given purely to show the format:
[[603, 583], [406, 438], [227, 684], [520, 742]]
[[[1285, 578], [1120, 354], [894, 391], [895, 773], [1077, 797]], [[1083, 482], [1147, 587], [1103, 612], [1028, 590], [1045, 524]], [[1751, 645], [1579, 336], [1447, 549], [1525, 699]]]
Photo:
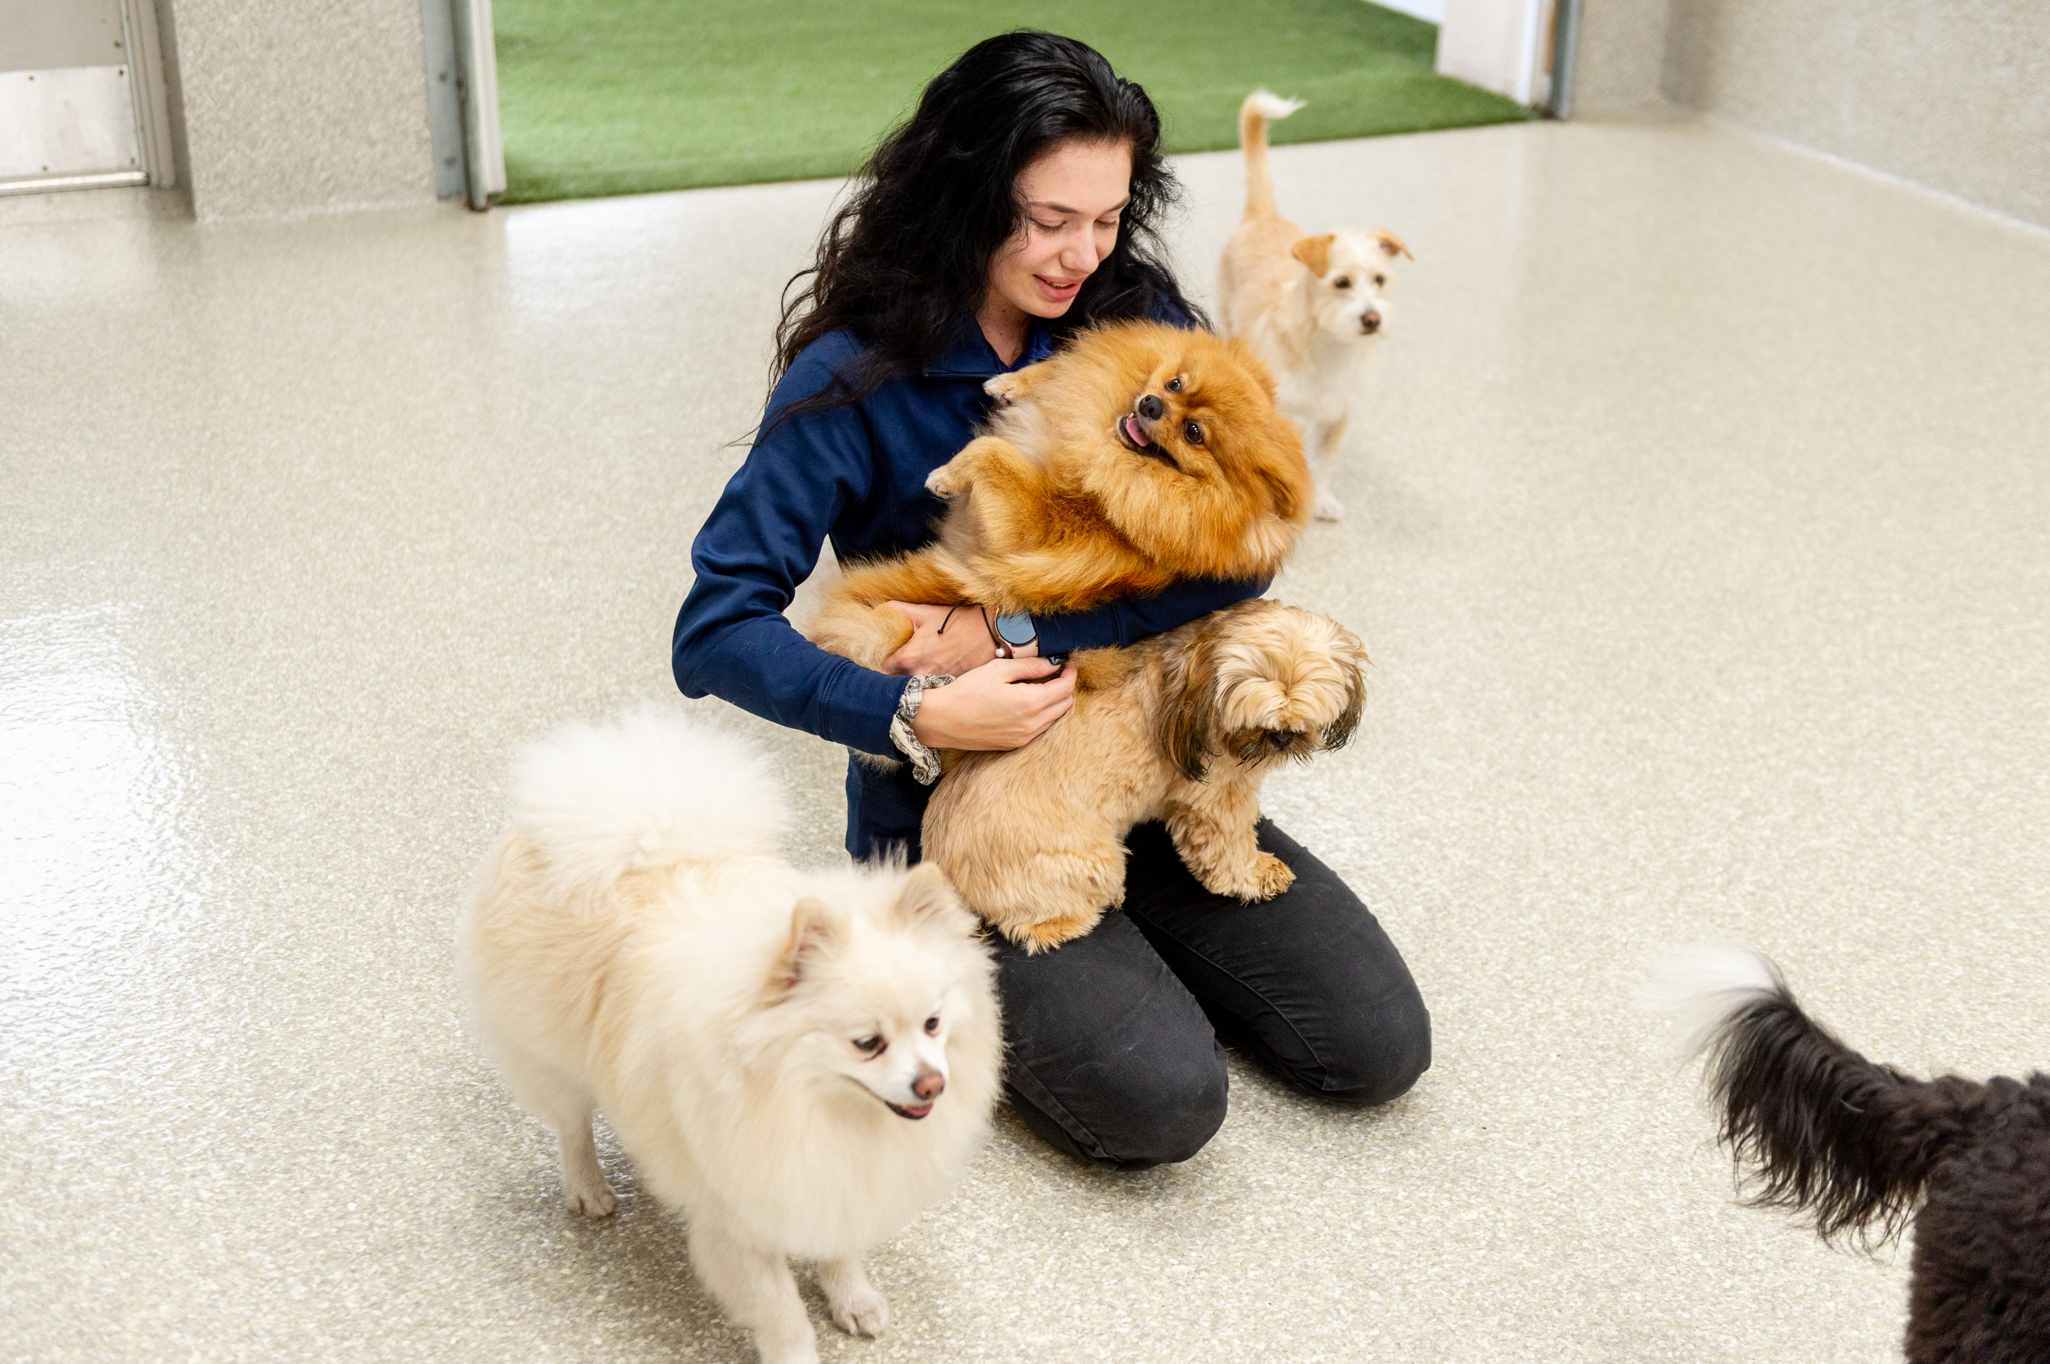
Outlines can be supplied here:
[[1779, 968], [1697, 948], [1646, 991], [1708, 1054], [1720, 1138], [1751, 1202], [1824, 1241], [1915, 1227], [1911, 1364], [2050, 1362], [2050, 1075], [1915, 1079], [1802, 1013]]

